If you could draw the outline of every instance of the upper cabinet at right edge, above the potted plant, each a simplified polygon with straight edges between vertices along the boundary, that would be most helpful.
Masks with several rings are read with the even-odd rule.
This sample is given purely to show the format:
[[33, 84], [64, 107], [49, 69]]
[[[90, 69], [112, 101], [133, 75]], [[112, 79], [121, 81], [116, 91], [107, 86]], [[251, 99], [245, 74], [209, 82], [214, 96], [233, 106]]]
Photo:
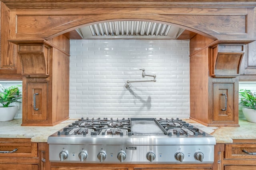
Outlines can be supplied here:
[[256, 41], [244, 45], [244, 57], [240, 66], [240, 81], [256, 81]]

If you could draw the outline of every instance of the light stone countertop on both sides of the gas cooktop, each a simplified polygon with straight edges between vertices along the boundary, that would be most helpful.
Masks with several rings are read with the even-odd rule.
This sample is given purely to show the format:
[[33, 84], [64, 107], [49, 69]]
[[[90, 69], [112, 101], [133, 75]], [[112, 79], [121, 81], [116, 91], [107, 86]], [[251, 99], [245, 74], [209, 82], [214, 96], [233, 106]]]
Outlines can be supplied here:
[[[47, 142], [48, 136], [77, 119], [68, 119], [55, 126], [21, 126], [22, 119], [0, 122], [0, 138], [31, 138], [32, 142]], [[216, 139], [216, 143], [232, 143], [232, 139], [256, 139], [256, 123], [239, 119], [240, 127], [206, 127], [191, 119], [183, 119]]]

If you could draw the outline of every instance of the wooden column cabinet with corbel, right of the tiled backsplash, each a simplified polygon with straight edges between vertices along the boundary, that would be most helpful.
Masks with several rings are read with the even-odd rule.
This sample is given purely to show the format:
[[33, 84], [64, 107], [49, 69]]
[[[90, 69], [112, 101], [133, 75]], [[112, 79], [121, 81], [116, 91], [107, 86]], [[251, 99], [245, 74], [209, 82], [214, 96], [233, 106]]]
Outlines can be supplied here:
[[239, 126], [238, 70], [243, 45], [212, 44], [202, 35], [190, 40], [190, 118], [206, 126]]

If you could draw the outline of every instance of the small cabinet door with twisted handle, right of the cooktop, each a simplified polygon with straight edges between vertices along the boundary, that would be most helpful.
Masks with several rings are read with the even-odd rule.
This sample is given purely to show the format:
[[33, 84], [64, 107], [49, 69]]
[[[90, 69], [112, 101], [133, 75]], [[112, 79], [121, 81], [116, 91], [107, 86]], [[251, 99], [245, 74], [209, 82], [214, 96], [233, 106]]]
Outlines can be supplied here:
[[234, 83], [213, 84], [213, 121], [234, 121]]

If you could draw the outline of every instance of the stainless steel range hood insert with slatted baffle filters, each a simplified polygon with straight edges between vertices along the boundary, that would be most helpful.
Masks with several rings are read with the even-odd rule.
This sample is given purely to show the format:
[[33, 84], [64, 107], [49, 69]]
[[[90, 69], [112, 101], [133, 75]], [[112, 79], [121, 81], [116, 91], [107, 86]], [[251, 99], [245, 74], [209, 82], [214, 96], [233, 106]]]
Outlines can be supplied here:
[[184, 29], [147, 21], [112, 21], [76, 29], [83, 39], [101, 38], [160, 38], [176, 39]]

